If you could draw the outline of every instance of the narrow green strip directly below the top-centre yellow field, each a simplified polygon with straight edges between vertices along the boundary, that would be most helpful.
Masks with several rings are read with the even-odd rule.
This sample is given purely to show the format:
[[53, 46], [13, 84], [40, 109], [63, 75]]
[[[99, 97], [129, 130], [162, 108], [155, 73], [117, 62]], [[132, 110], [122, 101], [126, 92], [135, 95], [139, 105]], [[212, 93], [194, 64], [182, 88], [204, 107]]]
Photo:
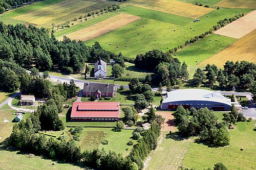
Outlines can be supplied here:
[[140, 17], [155, 19], [155, 20], [159, 20], [167, 23], [173, 23], [179, 26], [183, 26], [187, 24], [189, 21], [191, 21], [191, 19], [187, 17], [168, 14], [168, 13], [154, 11], [150, 9], [140, 8], [140, 7], [134, 7], [130, 5], [124, 8], [121, 8], [119, 12], [124, 12], [132, 15], [137, 15]]

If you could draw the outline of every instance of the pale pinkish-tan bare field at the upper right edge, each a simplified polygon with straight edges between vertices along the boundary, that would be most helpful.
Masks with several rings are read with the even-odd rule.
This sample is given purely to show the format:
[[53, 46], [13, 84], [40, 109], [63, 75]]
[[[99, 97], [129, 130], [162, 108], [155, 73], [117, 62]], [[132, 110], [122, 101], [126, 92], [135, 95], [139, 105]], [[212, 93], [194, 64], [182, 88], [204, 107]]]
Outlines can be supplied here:
[[232, 38], [241, 38], [256, 29], [256, 10], [214, 32]]

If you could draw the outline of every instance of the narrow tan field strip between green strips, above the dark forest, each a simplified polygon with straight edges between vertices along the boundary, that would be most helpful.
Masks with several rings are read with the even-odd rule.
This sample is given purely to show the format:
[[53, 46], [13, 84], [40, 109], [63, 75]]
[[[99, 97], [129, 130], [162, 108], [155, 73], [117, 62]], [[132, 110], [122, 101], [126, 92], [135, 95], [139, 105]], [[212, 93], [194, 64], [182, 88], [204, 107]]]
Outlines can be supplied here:
[[[116, 30], [137, 19], [140, 19], [140, 17], [134, 16], [134, 15], [128, 15], [128, 14], [119, 14], [109, 19], [95, 23], [92, 26], [83, 28], [81, 30], [75, 31], [70, 34], [66, 34], [66, 36], [69, 37], [70, 39], [77, 39], [77, 40], [79, 39], [82, 41], [87, 41], [95, 37], [98, 37], [102, 34]], [[63, 37], [58, 37], [58, 39], [62, 40]]]

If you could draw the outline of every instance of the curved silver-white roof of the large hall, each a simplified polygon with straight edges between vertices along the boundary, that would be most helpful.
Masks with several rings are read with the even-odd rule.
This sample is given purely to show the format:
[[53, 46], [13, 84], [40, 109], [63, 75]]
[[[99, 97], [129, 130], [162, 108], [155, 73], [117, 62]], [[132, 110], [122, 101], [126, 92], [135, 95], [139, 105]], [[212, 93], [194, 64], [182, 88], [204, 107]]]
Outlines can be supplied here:
[[204, 89], [183, 89], [167, 92], [167, 97], [163, 103], [178, 101], [218, 102], [231, 106], [231, 100], [225, 98], [220, 91]]

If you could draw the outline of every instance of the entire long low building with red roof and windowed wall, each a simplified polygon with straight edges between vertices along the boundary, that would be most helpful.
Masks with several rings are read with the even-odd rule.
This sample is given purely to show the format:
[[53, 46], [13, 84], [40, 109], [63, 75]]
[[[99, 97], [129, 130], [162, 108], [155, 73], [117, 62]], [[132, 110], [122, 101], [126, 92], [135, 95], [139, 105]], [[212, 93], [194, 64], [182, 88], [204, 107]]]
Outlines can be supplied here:
[[74, 102], [71, 120], [77, 122], [117, 122], [119, 102]]

